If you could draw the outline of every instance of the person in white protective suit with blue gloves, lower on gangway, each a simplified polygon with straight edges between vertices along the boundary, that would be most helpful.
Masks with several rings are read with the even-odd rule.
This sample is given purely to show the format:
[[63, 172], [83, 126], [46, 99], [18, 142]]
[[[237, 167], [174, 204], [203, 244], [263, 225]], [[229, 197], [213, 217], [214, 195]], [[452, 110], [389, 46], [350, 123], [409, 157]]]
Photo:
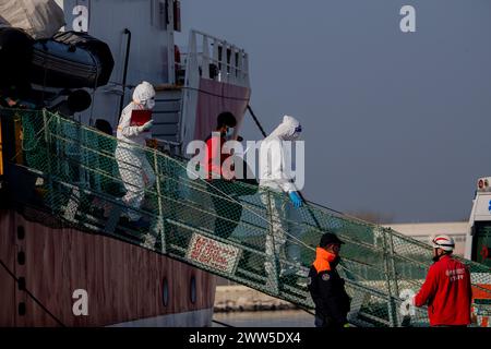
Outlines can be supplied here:
[[[298, 245], [287, 242], [288, 227], [285, 222], [288, 214], [287, 201], [278, 193], [286, 193], [295, 207], [302, 205], [302, 200], [290, 173], [291, 147], [286, 142], [298, 140], [301, 132], [300, 122], [290, 116], [284, 116], [283, 122], [266, 137], [260, 147], [260, 193], [261, 201], [266, 206], [271, 222], [270, 233], [266, 236], [265, 272], [270, 286], [277, 288], [277, 277], [295, 273], [295, 266], [280, 261], [299, 263]], [[291, 239], [290, 239], [291, 240]], [[285, 244], [287, 250], [285, 251]], [[282, 265], [279, 265], [282, 264]], [[276, 289], [277, 290], [277, 289]]]

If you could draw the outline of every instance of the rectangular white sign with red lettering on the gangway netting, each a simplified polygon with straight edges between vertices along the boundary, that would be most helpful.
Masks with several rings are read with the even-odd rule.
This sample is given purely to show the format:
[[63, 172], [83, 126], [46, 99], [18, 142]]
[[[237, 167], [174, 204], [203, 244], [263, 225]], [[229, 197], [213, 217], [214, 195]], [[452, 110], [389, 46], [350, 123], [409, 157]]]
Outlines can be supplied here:
[[209, 268], [233, 274], [239, 262], [240, 249], [193, 233], [185, 257]]

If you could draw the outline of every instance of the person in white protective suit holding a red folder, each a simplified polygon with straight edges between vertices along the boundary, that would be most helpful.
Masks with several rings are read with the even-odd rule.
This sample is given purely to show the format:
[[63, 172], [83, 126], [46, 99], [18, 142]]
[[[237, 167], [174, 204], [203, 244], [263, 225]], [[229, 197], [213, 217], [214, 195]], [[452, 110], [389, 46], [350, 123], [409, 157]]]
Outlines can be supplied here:
[[[145, 197], [145, 189], [155, 183], [155, 173], [148, 164], [143, 151], [145, 139], [152, 128], [151, 119], [143, 125], [131, 125], [131, 115], [133, 110], [152, 110], [155, 107], [155, 89], [146, 81], [137, 85], [133, 92], [133, 100], [123, 109], [118, 125], [118, 146], [116, 148], [116, 159], [119, 173], [124, 184], [127, 193], [122, 201], [130, 207], [140, 208]], [[139, 213], [128, 209], [125, 213], [131, 224], [137, 228], [147, 228], [148, 222], [144, 221]]]

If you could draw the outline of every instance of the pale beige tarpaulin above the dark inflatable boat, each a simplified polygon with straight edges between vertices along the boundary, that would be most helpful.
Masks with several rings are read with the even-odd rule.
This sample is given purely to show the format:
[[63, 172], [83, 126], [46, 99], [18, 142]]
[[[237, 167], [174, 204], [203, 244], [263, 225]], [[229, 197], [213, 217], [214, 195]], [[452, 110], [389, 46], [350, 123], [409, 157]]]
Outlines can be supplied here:
[[0, 23], [50, 38], [64, 25], [64, 14], [55, 0], [0, 0]]

